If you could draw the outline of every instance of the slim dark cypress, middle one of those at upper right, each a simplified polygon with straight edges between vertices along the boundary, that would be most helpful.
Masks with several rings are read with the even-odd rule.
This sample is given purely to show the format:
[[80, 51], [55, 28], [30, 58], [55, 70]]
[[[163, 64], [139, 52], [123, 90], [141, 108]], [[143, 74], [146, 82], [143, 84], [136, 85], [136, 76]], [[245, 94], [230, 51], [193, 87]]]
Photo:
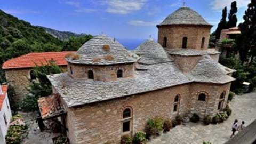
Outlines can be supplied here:
[[228, 14], [228, 24], [227, 24], [228, 28], [236, 27], [236, 23], [237, 23], [236, 13], [237, 13], [237, 6], [236, 6], [236, 1], [234, 1], [231, 3], [231, 9]]

